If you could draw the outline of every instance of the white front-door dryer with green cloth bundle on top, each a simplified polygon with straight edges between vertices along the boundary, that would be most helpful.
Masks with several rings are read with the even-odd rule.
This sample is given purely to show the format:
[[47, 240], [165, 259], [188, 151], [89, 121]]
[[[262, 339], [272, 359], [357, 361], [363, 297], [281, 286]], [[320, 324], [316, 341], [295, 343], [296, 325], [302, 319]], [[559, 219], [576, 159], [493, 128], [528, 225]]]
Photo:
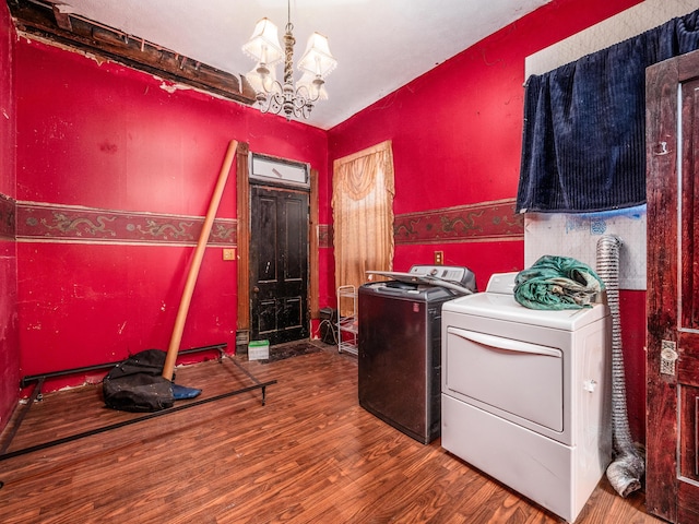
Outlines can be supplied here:
[[573, 522], [612, 458], [612, 320], [520, 306], [516, 275], [442, 307], [441, 445]]

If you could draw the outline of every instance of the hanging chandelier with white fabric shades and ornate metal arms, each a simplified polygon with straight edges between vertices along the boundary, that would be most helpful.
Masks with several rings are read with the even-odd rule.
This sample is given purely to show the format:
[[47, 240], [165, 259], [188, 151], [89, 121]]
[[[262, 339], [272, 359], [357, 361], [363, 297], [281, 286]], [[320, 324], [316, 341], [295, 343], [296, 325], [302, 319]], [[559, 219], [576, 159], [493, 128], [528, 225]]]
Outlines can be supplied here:
[[[306, 52], [298, 62], [301, 76], [294, 84], [294, 44], [296, 43], [292, 24], [291, 0], [287, 2], [287, 23], [284, 34], [284, 49], [280, 45], [276, 25], [268, 19], [260, 20], [254, 26], [252, 36], [242, 51], [252, 58], [257, 64], [245, 78], [256, 93], [256, 100], [262, 112], [279, 115], [284, 112], [286, 120], [308, 118], [318, 100], [327, 100], [328, 92], [324, 83], [335, 66], [330, 52], [328, 38], [320, 33], [313, 33], [308, 38]], [[275, 67], [284, 61], [284, 80], [276, 80]]]

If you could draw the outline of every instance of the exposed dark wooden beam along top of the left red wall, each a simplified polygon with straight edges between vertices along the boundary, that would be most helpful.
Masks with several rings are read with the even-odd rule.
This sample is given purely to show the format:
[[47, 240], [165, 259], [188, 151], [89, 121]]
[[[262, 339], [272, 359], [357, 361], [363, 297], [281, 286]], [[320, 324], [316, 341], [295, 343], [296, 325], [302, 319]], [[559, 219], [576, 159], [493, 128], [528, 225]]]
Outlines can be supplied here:
[[171, 82], [217, 94], [245, 105], [254, 104], [254, 91], [235, 75], [164, 49], [123, 32], [62, 11], [60, 5], [8, 0], [20, 34], [36, 36], [88, 51]]

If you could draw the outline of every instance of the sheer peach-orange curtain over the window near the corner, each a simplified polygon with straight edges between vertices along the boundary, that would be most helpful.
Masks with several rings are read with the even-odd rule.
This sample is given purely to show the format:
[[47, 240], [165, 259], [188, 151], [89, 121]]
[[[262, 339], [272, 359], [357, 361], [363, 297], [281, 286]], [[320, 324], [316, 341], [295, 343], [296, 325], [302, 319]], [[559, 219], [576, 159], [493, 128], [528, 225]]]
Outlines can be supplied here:
[[[394, 194], [390, 141], [334, 162], [336, 287], [359, 287], [367, 282], [367, 270], [392, 270]], [[340, 309], [342, 314], [344, 306]]]

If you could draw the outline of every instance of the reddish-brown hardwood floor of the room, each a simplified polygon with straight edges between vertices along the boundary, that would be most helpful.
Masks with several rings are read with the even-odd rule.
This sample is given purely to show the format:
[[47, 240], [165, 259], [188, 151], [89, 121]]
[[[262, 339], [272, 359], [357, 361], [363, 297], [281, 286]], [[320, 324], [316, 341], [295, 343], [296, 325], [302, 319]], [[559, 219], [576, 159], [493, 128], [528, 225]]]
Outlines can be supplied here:
[[[0, 462], [10, 523], [556, 523], [555, 515], [357, 403], [356, 358], [334, 347], [241, 359], [266, 390], [183, 409]], [[233, 362], [178, 368], [202, 397], [250, 385]], [[46, 395], [8, 451], [133, 417], [98, 385]], [[177, 405], [190, 401], [178, 401]], [[577, 523], [656, 523], [643, 493], [606, 478]]]

